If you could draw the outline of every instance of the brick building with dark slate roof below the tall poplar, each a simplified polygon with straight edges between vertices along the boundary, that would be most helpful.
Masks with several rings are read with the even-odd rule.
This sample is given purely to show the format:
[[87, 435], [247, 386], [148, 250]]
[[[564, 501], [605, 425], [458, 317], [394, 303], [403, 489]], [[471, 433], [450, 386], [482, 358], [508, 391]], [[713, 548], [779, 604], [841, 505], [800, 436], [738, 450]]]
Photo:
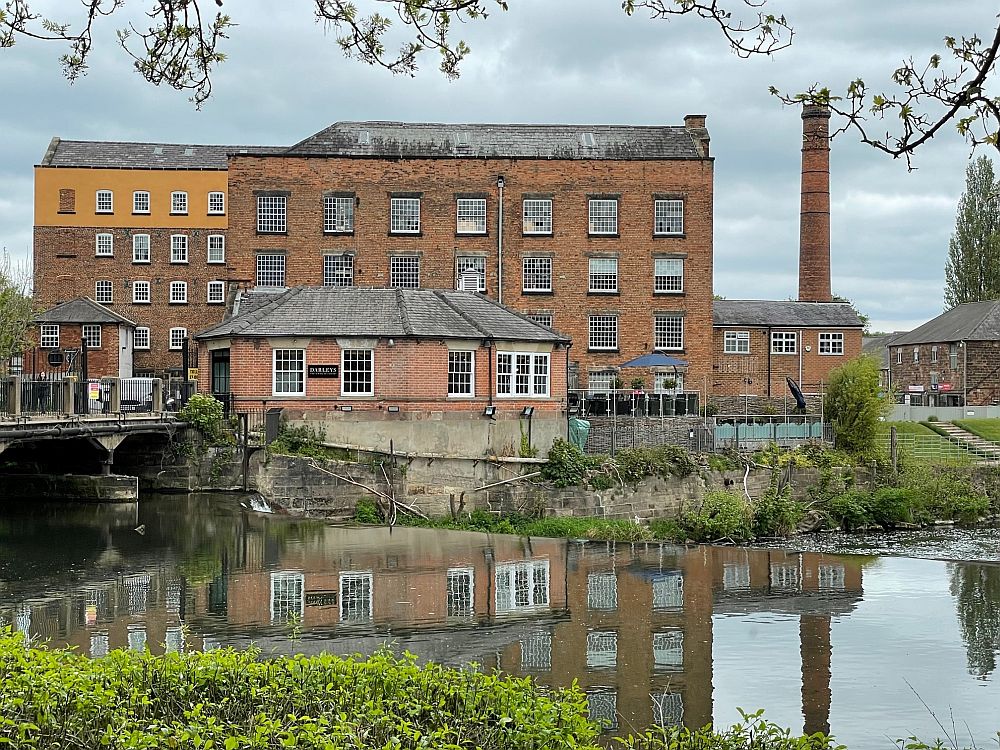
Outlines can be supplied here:
[[904, 403], [1000, 404], [1000, 300], [953, 307], [886, 349], [889, 385]]

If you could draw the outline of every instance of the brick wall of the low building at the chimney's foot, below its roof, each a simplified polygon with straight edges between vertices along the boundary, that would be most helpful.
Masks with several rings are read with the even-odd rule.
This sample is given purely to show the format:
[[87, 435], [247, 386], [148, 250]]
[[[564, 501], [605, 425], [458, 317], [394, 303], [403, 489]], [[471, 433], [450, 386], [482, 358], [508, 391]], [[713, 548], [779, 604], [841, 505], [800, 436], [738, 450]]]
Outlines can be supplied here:
[[[767, 328], [729, 326], [713, 332], [715, 362], [713, 364], [712, 393], [735, 396], [751, 394], [781, 397], [788, 394], [786, 377], [799, 383], [803, 393], [821, 393], [830, 380], [830, 372], [845, 362], [861, 355], [860, 328], [796, 329], [774, 328], [774, 331], [794, 331], [799, 334], [795, 354], [771, 354], [770, 334]], [[727, 354], [726, 331], [749, 331], [750, 352]], [[843, 355], [819, 353], [820, 333], [843, 333]], [[805, 350], [809, 348], [809, 351]], [[801, 375], [800, 375], [801, 353]], [[770, 384], [768, 373], [770, 372]], [[801, 379], [801, 382], [799, 382]]]

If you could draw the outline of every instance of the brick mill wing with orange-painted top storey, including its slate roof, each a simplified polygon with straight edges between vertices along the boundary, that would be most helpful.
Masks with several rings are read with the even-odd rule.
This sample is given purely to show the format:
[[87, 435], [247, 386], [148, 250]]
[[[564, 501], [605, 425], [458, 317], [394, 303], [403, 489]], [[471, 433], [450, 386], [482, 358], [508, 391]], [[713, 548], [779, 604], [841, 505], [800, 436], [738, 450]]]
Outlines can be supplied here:
[[134, 374], [180, 375], [184, 338], [222, 320], [249, 278], [226, 248], [238, 148], [53, 138], [35, 167], [39, 305], [90, 297], [135, 321]]

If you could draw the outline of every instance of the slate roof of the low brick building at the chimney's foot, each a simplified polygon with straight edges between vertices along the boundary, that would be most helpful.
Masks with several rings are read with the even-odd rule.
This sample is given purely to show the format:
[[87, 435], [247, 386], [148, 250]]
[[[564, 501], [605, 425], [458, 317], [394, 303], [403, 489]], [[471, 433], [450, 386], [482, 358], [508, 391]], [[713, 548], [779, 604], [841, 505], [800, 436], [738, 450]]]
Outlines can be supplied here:
[[712, 303], [712, 324], [785, 328], [862, 328], [864, 324], [846, 302], [783, 302], [762, 299], [723, 299]]

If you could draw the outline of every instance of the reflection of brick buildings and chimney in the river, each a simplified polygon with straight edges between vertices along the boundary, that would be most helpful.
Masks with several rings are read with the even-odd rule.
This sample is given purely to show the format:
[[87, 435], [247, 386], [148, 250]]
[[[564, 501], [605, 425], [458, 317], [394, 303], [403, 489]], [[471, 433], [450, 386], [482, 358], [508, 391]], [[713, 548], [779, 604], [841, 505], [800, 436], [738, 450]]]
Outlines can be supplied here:
[[225, 540], [212, 560], [201, 549], [179, 553], [169, 514], [150, 522], [162, 535], [141, 551], [106, 534], [71, 584], [10, 584], [19, 596], [0, 604], [0, 617], [95, 657], [250, 643], [264, 653], [364, 654], [391, 642], [544, 685], [576, 680], [612, 737], [711, 723], [713, 617], [782, 613], [799, 617], [811, 733], [830, 728], [831, 620], [862, 597], [863, 558], [237, 515], [224, 534], [218, 518], [209, 526]]

